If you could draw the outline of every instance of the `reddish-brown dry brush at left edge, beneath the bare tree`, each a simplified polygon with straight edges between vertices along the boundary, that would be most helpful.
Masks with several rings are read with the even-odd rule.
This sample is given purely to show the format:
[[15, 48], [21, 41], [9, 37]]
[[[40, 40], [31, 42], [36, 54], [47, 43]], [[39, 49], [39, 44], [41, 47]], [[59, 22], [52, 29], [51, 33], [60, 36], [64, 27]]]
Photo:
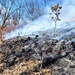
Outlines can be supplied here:
[[18, 29], [21, 28], [23, 25], [17, 25], [16, 26], [16, 22], [14, 21], [13, 25], [11, 25], [10, 27], [6, 27], [5, 26], [0, 26], [0, 45], [2, 44], [5, 34], [9, 33], [11, 31], [13, 31], [14, 29]]

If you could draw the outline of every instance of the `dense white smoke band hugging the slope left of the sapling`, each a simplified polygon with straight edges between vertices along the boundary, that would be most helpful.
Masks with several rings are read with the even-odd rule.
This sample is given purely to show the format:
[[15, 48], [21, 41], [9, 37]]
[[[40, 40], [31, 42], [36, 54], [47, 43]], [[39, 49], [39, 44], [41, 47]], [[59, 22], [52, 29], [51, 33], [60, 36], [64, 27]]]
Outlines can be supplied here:
[[51, 26], [51, 23], [49, 22], [50, 22], [50, 16], [43, 15], [31, 23], [22, 26], [21, 28], [15, 29], [10, 33], [7, 33], [5, 39], [10, 39], [17, 36], [24, 36], [24, 35], [26, 36], [37, 31], [43, 31], [49, 28], [53, 28], [53, 26]]

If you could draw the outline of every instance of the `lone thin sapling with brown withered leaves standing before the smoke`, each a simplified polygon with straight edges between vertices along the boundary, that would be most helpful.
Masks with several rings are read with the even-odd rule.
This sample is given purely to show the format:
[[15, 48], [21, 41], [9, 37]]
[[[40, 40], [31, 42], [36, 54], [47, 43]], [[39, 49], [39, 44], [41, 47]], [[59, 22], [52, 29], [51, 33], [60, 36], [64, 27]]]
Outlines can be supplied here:
[[[51, 20], [55, 22], [55, 27], [54, 27], [54, 32], [56, 30], [56, 25], [57, 25], [57, 21], [60, 21], [61, 19], [59, 19], [59, 15], [60, 15], [60, 9], [62, 7], [59, 6], [59, 4], [56, 4], [55, 6], [51, 7], [51, 10], [52, 10], [52, 13], [55, 15], [55, 16], [52, 16], [51, 17]], [[50, 13], [50, 15], [52, 14]]]

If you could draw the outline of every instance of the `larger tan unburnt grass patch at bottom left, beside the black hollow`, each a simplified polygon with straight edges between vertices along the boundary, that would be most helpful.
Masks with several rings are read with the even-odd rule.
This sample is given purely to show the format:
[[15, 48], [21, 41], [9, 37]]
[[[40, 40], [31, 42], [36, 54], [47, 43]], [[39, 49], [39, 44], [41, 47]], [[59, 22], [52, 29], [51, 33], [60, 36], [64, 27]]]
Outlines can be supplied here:
[[33, 70], [34, 67], [37, 67], [39, 63], [40, 62], [37, 60], [21, 62], [11, 67], [11, 69], [5, 69], [4, 72], [0, 75], [19, 75], [22, 72]]

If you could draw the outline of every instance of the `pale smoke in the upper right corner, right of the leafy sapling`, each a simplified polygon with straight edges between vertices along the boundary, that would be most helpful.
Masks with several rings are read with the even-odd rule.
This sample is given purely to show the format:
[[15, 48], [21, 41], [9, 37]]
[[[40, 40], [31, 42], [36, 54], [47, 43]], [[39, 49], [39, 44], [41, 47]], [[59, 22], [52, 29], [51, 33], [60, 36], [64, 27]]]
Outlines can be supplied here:
[[75, 0], [64, 0], [61, 6], [62, 23], [75, 20]]

